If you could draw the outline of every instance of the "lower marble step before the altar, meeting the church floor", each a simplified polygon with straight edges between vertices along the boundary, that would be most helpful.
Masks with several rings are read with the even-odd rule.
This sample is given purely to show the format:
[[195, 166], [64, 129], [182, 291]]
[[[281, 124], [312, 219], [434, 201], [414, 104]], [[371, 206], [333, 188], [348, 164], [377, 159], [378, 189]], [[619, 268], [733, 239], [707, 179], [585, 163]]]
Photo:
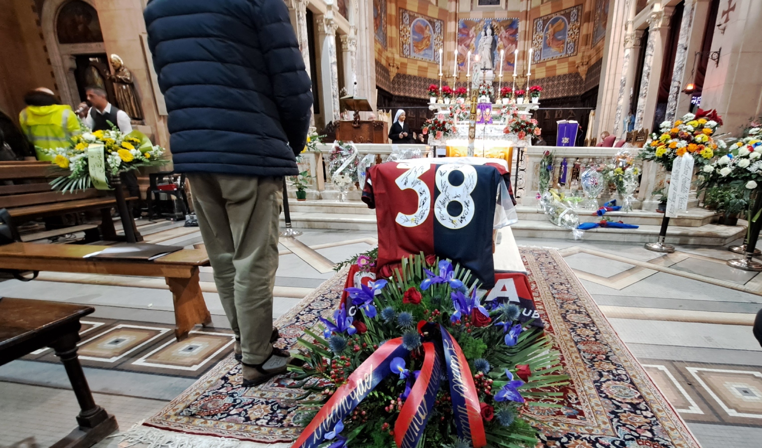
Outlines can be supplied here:
[[[281, 216], [283, 221], [283, 216]], [[375, 215], [318, 212], [293, 212], [291, 225], [301, 229], [349, 229], [376, 230]], [[638, 229], [592, 229], [584, 232], [582, 239], [588, 241], [618, 241], [618, 242], [654, 242], [661, 226], [644, 225]], [[573, 239], [571, 231], [553, 225], [547, 219], [519, 220], [511, 226], [516, 238], [555, 238]], [[679, 245], [726, 245], [738, 238], [743, 238], [745, 225], [718, 226], [705, 224], [700, 227], [669, 226], [667, 242]]]

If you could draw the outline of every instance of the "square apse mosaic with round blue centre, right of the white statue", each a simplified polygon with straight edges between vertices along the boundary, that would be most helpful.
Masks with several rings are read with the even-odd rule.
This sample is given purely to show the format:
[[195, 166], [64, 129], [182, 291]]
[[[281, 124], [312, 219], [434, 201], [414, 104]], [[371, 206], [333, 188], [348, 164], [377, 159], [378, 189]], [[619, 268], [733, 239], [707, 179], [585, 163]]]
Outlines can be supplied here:
[[575, 56], [579, 43], [582, 5], [566, 8], [534, 20], [532, 62]]

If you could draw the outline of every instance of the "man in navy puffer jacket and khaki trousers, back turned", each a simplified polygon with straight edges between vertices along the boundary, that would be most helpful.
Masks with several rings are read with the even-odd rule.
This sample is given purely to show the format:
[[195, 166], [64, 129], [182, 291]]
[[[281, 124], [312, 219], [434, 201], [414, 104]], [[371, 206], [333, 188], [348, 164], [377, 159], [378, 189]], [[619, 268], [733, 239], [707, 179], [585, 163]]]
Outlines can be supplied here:
[[254, 386], [289, 360], [271, 342], [273, 286], [283, 176], [299, 174], [309, 76], [283, 0], [152, 0], [144, 18], [174, 169], [193, 186], [243, 385]]

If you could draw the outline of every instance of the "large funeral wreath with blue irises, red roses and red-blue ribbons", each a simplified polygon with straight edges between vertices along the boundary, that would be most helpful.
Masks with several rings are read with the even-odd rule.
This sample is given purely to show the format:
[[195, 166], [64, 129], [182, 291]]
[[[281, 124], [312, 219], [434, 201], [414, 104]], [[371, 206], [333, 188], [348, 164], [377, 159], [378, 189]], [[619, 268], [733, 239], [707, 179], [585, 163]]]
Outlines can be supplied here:
[[[514, 304], [482, 305], [477, 283], [469, 270], [421, 254], [402, 259], [388, 280], [347, 288], [357, 314], [342, 305], [333, 320], [321, 318], [322, 332], [299, 339], [303, 366], [289, 367], [293, 387], [312, 400], [303, 402], [312, 422], [302, 437], [333, 448], [388, 448], [403, 437], [410, 446], [471, 446], [458, 434], [535, 446], [536, 421], [523, 411], [560, 407], [568, 377], [543, 331], [524, 328]], [[363, 381], [371, 371], [373, 383]], [[420, 424], [406, 423], [411, 413]], [[328, 419], [330, 427], [319, 424]]]

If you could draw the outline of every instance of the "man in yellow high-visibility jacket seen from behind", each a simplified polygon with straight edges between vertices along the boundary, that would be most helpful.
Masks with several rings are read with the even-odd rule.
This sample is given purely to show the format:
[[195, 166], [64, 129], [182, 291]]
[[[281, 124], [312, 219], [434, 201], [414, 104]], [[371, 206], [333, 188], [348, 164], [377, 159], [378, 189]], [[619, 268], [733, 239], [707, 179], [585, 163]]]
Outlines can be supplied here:
[[37, 152], [37, 160], [53, 160], [40, 149], [69, 146], [72, 136], [81, 132], [79, 120], [68, 104], [58, 104], [56, 94], [40, 87], [24, 95], [27, 107], [18, 114], [21, 132]]

